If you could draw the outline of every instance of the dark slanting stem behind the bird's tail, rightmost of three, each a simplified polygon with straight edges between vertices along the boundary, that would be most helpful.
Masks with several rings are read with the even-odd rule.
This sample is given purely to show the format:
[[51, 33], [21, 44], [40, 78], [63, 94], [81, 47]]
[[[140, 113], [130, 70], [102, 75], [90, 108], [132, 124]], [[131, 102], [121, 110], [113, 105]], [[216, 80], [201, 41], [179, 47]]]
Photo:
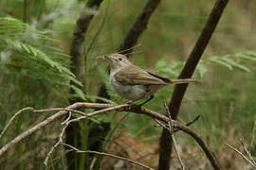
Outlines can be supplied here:
[[[229, 0], [217, 0], [214, 7], [211, 9], [210, 16], [208, 18], [207, 24], [201, 32], [197, 42], [195, 43], [192, 53], [190, 54], [189, 59], [187, 60], [181, 74], [178, 78], [190, 78], [201, 59], [210, 38], [218, 25], [218, 22], [222, 16], [224, 9], [226, 8]], [[172, 96], [171, 103], [169, 104], [169, 110], [172, 113], [172, 119], [176, 119], [178, 115], [178, 111], [180, 109], [181, 101], [186, 93], [188, 84], [178, 84], [174, 88], [174, 93]], [[166, 150], [166, 148], [172, 148], [172, 143], [168, 143], [170, 135], [168, 130], [163, 129], [161, 142], [160, 142], [160, 153], [164, 153], [159, 156], [159, 169], [169, 170], [170, 168], [170, 159], [172, 149]], [[163, 151], [165, 150], [165, 151]], [[166, 158], [166, 157], [169, 158]], [[168, 161], [168, 162], [167, 162]], [[219, 169], [218, 167], [214, 167], [214, 169]]]

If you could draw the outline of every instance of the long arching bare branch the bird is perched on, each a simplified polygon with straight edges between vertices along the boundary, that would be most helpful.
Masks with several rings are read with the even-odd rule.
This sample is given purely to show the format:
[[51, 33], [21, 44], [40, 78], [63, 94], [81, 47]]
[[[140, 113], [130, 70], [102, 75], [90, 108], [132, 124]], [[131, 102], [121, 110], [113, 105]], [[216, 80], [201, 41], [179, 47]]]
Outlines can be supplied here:
[[[90, 116], [94, 116], [94, 115], [104, 113], [104, 112], [107, 112], [107, 111], [111, 111], [111, 110], [131, 111], [131, 112], [135, 112], [135, 113], [138, 113], [138, 114], [145, 114], [147, 116], [152, 117], [153, 119], [157, 119], [159, 121], [162, 121], [165, 124], [168, 124], [170, 122], [170, 120], [167, 116], [165, 116], [163, 114], [160, 114], [158, 112], [155, 112], [154, 110], [148, 110], [148, 109], [140, 108], [138, 105], [135, 105], [135, 104], [122, 104], [122, 105], [118, 105], [118, 106], [113, 106], [113, 105], [110, 105], [110, 104], [79, 102], [79, 103], [75, 103], [75, 104], [65, 108], [65, 110], [58, 111], [57, 113], [49, 116], [46, 120], [40, 122], [39, 124], [35, 125], [34, 127], [30, 127], [26, 131], [22, 132], [20, 135], [15, 137], [8, 144], [5, 144], [2, 148], [0, 148], [0, 156], [2, 156], [6, 151], [8, 151], [9, 148], [13, 147], [14, 144], [17, 144], [17, 143], [21, 142], [23, 139], [27, 138], [32, 133], [36, 132], [37, 130], [41, 129], [42, 127], [46, 127], [50, 123], [59, 119], [60, 117], [65, 115], [67, 112], [69, 112], [69, 110], [75, 110], [75, 109], [79, 109], [79, 108], [90, 108], [90, 109], [94, 108], [94, 109], [102, 109], [102, 110], [96, 110], [96, 111], [93, 111], [93, 112], [90, 112], [90, 113], [82, 113], [82, 116], [80, 116], [76, 119], [71, 119], [71, 120], [64, 121], [64, 128], [63, 128], [62, 131], [64, 131], [64, 129], [70, 123], [78, 122], [78, 121], [80, 121], [82, 119], [86, 119]], [[54, 109], [48, 109], [48, 110], [54, 110]], [[33, 110], [33, 111], [38, 112], [38, 110]], [[40, 111], [42, 111], [42, 110], [40, 110]], [[83, 114], [85, 114], [85, 115], [83, 115]], [[68, 116], [68, 117], [70, 117], [70, 116]], [[174, 125], [175, 128], [178, 128], [178, 129], [190, 134], [192, 136], [192, 138], [202, 147], [203, 151], [206, 153], [208, 159], [210, 160], [211, 165], [214, 168], [218, 167], [218, 162], [214, 158], [212, 153], [210, 152], [210, 149], [206, 146], [206, 144], [204, 144], [203, 140], [200, 137], [198, 137], [192, 131], [192, 128], [186, 127], [186, 126], [182, 125], [181, 123], [179, 123], [175, 120], [172, 120], [172, 122], [173, 122], [173, 125]], [[59, 144], [61, 144], [61, 142], [62, 142], [62, 140], [60, 140]], [[59, 144], [55, 144], [51, 150], [54, 150]]]

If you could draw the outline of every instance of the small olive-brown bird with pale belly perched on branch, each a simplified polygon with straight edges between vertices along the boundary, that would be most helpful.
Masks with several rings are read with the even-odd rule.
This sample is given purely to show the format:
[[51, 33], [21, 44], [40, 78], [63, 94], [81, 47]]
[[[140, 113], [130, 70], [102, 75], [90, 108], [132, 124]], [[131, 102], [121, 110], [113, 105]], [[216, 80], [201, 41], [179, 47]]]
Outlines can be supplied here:
[[103, 58], [109, 62], [109, 81], [116, 93], [129, 99], [129, 103], [149, 97], [139, 106], [152, 100], [155, 97], [154, 94], [165, 86], [197, 82], [197, 79], [169, 79], [155, 75], [133, 64], [119, 53], [104, 55]]

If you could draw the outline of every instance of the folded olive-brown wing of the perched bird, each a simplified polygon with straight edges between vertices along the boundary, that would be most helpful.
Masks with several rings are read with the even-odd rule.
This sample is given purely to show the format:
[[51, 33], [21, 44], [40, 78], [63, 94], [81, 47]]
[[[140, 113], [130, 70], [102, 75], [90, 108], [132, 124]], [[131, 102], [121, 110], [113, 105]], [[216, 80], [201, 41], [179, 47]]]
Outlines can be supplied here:
[[132, 66], [123, 68], [114, 76], [119, 83], [126, 85], [168, 85], [171, 83], [166, 77], [156, 76], [150, 72]]

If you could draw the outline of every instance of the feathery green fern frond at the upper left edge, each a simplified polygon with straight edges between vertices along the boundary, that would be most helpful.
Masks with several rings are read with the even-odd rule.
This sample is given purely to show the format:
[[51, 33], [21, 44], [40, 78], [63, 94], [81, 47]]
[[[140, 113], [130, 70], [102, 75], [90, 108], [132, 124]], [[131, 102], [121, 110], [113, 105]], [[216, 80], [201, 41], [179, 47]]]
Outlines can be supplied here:
[[0, 18], [0, 29], [0, 64], [9, 75], [50, 84], [50, 90], [58, 94], [70, 81], [82, 86], [69, 70], [69, 56], [52, 46], [57, 40], [45, 31], [14, 18]]

